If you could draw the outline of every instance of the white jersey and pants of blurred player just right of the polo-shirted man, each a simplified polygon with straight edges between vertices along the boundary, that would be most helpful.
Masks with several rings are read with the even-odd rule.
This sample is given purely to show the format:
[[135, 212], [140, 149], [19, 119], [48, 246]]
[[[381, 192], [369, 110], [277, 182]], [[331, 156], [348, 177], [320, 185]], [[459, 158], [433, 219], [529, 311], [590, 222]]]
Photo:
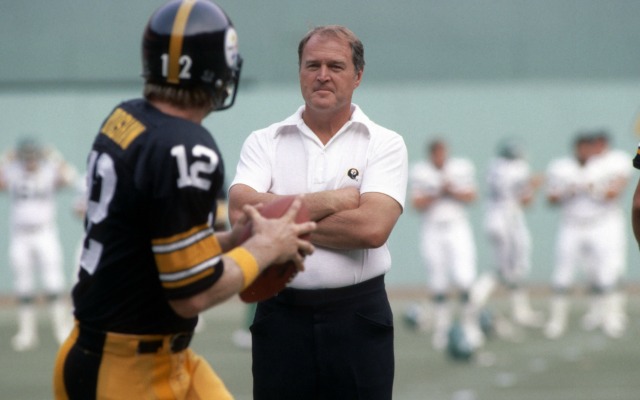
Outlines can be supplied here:
[[[437, 196], [445, 184], [475, 190], [474, 174], [475, 168], [465, 159], [448, 159], [442, 170], [422, 161], [411, 170], [411, 191]], [[422, 212], [420, 250], [435, 294], [445, 293], [451, 284], [470, 288], [476, 277], [476, 247], [464, 203], [444, 195]]]

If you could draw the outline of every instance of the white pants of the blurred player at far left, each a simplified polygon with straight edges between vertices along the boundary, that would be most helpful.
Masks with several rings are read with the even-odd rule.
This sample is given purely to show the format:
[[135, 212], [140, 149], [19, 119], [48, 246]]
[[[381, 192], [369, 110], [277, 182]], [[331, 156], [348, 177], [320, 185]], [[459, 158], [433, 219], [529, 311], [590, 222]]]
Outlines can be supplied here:
[[14, 289], [19, 297], [31, 297], [36, 292], [36, 277], [48, 294], [64, 290], [62, 249], [53, 227], [34, 230], [14, 230], [9, 244], [9, 257], [14, 277]]

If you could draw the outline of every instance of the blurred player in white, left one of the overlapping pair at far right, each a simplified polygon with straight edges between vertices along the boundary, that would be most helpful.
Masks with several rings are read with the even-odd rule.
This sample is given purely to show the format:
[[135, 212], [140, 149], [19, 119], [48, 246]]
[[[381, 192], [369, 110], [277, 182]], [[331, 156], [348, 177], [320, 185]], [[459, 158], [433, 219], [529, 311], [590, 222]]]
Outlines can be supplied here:
[[[592, 285], [605, 286], [605, 281], [620, 273], [619, 266], [612, 268], [614, 260], [606, 256], [609, 245], [603, 234], [608, 225], [603, 220], [602, 171], [593, 164], [595, 149], [591, 133], [581, 132], [575, 137], [573, 156], [552, 161], [547, 170], [547, 199], [561, 213], [552, 276], [554, 296], [545, 326], [545, 335], [552, 339], [566, 330], [568, 290], [579, 265]], [[597, 271], [608, 272], [598, 277]]]

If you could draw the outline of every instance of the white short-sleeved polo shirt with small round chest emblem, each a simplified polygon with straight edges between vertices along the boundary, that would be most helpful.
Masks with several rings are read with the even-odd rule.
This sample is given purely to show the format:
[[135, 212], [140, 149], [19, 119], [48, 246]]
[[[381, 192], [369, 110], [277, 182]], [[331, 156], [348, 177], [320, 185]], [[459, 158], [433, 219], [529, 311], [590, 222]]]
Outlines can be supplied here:
[[[244, 184], [258, 192], [279, 195], [356, 187], [360, 194], [384, 193], [404, 207], [408, 175], [404, 140], [372, 122], [357, 105], [351, 108], [351, 119], [326, 145], [302, 120], [304, 106], [284, 121], [252, 132], [242, 147], [231, 186]], [[390, 268], [386, 244], [353, 250], [316, 246], [305, 261], [305, 271], [289, 286], [349, 286]]]

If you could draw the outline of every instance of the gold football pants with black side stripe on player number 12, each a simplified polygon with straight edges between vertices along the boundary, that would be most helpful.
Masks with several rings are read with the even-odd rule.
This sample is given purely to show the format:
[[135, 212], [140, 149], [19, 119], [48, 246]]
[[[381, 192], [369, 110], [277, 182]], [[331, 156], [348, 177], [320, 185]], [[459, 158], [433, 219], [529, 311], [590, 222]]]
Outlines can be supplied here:
[[171, 336], [80, 331], [58, 352], [56, 400], [233, 398], [211, 366], [188, 347], [176, 350]]

